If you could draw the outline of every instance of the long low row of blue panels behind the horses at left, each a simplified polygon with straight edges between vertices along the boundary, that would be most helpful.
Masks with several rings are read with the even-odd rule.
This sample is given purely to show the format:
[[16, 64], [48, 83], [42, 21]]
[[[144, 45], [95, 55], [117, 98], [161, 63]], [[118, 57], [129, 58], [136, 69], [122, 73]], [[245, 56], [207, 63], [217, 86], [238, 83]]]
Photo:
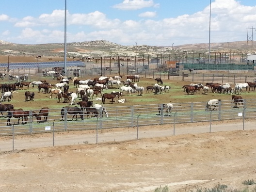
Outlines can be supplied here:
[[[31, 62], [31, 63], [9, 63], [10, 69], [18, 69], [18, 68], [37, 68], [37, 64], [39, 67], [64, 67], [64, 61], [61, 62]], [[84, 63], [81, 61], [67, 61], [66, 66], [83, 66]], [[0, 64], [0, 67], [8, 67], [8, 63]]]

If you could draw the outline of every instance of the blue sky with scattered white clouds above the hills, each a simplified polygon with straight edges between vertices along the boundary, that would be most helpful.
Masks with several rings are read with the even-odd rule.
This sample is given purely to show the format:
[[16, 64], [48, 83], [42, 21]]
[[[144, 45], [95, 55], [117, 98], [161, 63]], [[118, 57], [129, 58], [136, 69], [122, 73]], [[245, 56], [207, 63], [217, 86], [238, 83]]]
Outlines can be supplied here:
[[[66, 7], [67, 43], [178, 46], [256, 38], [256, 0], [66, 0]], [[0, 40], [64, 43], [64, 13], [65, 0], [0, 0]]]

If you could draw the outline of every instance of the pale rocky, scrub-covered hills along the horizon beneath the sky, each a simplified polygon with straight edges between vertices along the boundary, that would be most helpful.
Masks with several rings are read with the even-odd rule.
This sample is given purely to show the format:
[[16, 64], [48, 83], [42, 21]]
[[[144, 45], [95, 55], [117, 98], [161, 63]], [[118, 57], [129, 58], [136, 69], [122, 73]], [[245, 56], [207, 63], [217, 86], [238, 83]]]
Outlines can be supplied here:
[[[256, 42], [253, 41], [253, 45]], [[247, 41], [211, 43], [211, 52], [232, 52], [246, 54]], [[248, 42], [248, 51], [251, 53], [252, 42]], [[114, 57], [114, 56], [138, 56], [143, 55], [156, 56], [157, 54], [179, 54], [179, 53], [206, 53], [208, 52], [208, 44], [186, 44], [180, 46], [122, 46], [106, 40], [85, 41], [67, 43], [67, 57]], [[253, 49], [256, 53], [256, 49]], [[47, 57], [64, 57], [64, 43], [51, 44], [15, 44], [0, 40], [0, 55], [14, 56], [35, 56], [42, 55]]]

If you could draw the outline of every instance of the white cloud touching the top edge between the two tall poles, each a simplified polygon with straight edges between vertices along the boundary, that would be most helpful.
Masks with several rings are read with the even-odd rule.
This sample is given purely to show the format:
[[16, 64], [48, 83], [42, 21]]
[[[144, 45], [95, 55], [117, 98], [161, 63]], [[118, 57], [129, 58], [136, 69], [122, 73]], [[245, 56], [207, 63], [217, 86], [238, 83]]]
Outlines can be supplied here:
[[138, 10], [146, 7], [158, 7], [153, 0], [124, 0], [122, 3], [113, 6], [120, 10]]

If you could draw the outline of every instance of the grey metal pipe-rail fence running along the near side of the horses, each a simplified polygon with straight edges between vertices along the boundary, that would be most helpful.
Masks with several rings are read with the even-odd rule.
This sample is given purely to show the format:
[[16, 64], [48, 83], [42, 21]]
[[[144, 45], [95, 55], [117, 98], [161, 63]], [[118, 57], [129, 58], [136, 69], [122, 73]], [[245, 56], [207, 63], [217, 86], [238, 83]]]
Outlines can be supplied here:
[[[152, 105], [134, 105], [134, 106], [116, 106], [107, 107], [109, 117], [93, 117], [88, 118], [85, 114], [78, 115], [72, 120], [73, 115], [67, 113], [66, 109], [61, 115], [61, 109], [50, 109], [48, 121], [42, 118], [41, 123], [38, 123], [34, 113], [39, 113], [39, 110], [30, 111], [26, 124], [18, 124], [17, 118], [11, 118], [12, 126], [6, 126], [7, 117], [0, 119], [0, 135], [14, 136], [19, 134], [34, 134], [34, 133], [53, 133], [54, 132], [70, 131], [70, 130], [104, 130], [110, 128], [134, 128], [148, 125], [163, 125], [163, 124], [179, 124], [179, 123], [194, 123], [194, 122], [211, 122], [222, 121], [226, 119], [254, 119], [256, 116], [256, 99], [244, 99], [243, 105], [238, 108], [234, 107], [232, 100], [222, 100], [219, 102], [216, 109], [207, 111], [206, 102], [196, 103], [173, 103], [174, 108], [171, 113], [166, 112], [163, 104]], [[3, 112], [4, 114], [6, 112]], [[225, 130], [225, 127], [223, 127]], [[121, 130], [120, 130], [121, 131]], [[135, 132], [133, 132], [135, 135]], [[117, 136], [116, 136], [117, 137]], [[98, 141], [98, 136], [94, 136], [95, 142]], [[116, 138], [112, 138], [114, 141]], [[123, 138], [125, 140], [125, 138]], [[134, 137], [135, 139], [135, 137]], [[138, 133], [137, 133], [138, 139]], [[52, 140], [52, 139], [49, 139]], [[83, 137], [86, 140], [86, 137]], [[30, 147], [33, 147], [31, 144]], [[38, 147], [43, 147], [45, 144], [39, 144]], [[28, 146], [14, 145], [14, 141], [7, 146], [1, 146], [1, 150], [23, 149]]]

